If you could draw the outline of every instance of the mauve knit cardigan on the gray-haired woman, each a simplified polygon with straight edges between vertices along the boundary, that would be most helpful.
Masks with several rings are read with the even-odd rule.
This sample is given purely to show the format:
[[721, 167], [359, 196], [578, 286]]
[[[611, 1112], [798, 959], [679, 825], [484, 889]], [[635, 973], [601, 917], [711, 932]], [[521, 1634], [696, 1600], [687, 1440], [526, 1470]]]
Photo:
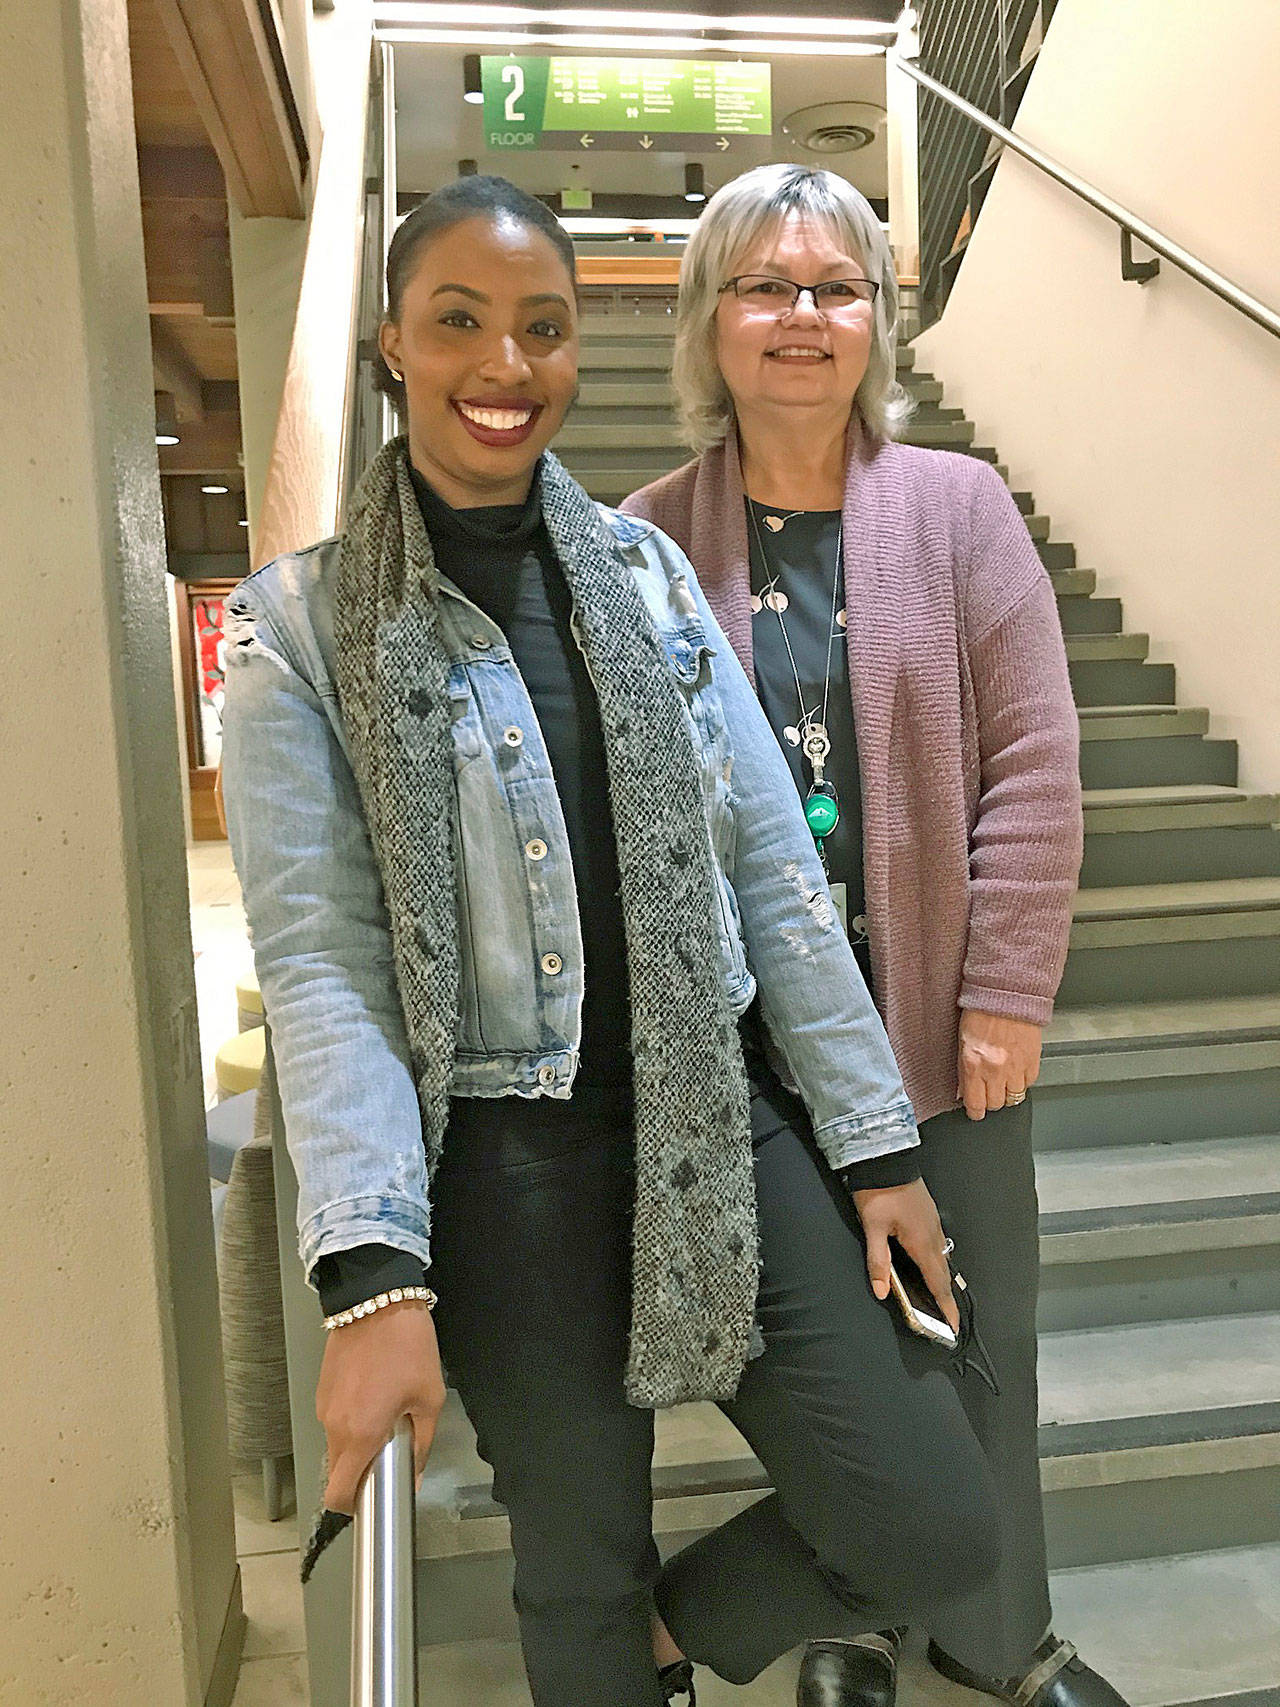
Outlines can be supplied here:
[[[621, 505], [671, 534], [748, 674], [737, 435]], [[1044, 1024], [1084, 854], [1053, 587], [993, 468], [850, 434], [848, 676], [876, 992], [916, 1120], [956, 1106], [959, 1009]]]

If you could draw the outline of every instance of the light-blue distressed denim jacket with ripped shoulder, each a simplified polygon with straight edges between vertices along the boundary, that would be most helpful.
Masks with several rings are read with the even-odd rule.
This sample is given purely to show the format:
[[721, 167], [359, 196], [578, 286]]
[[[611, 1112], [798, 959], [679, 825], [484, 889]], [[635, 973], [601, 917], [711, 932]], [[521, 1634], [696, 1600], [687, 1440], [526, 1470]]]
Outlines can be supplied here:
[[[835, 915], [787, 761], [684, 553], [602, 510], [666, 649], [701, 760], [729, 1002], [759, 999], [835, 1168], [918, 1142]], [[422, 1121], [391, 927], [335, 686], [340, 541], [282, 556], [227, 603], [227, 828], [299, 1176], [307, 1272], [379, 1243], [428, 1261]], [[568, 1098], [582, 935], [560, 799], [498, 626], [447, 580], [459, 1016], [456, 1096]], [[577, 625], [575, 625], [577, 626]]]

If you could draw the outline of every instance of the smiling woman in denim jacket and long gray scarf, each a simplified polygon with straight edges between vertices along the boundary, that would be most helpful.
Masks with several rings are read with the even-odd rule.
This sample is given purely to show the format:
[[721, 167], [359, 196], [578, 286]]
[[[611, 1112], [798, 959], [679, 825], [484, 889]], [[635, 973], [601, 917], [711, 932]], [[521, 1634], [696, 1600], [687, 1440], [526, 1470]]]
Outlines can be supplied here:
[[[387, 259], [408, 437], [340, 539], [229, 606], [225, 799], [350, 1511], [440, 1352], [510, 1512], [538, 1707], [693, 1698], [993, 1565], [981, 1454], [889, 1309], [954, 1320], [881, 1021], [684, 555], [546, 452], [572, 248], [500, 179]], [[753, 1007], [795, 1091], [736, 1021]], [[435, 1314], [404, 1289], [439, 1292]], [[352, 1314], [358, 1308], [358, 1314]], [[437, 1343], [439, 1331], [439, 1343]], [[717, 1400], [775, 1494], [666, 1565], [652, 1410]]]

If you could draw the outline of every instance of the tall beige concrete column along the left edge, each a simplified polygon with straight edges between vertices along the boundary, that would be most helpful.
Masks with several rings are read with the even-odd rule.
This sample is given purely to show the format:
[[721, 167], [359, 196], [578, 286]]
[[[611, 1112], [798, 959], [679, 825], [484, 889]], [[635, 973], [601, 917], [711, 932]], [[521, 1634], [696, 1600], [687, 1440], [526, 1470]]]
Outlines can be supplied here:
[[125, 0], [0, 29], [0, 1700], [229, 1700], [222, 1401]]

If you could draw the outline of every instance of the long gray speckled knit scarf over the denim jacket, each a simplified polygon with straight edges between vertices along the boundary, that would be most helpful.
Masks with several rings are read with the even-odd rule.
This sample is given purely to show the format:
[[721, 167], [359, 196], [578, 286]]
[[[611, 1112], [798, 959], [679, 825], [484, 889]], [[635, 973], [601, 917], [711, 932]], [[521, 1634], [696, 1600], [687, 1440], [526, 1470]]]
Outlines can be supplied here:
[[[626, 923], [635, 1057], [626, 1398], [640, 1407], [729, 1398], [753, 1338], [756, 1197], [698, 758], [662, 642], [609, 527], [551, 456], [541, 493], [599, 696]], [[437, 589], [406, 440], [394, 439], [353, 498], [335, 635], [343, 720], [391, 915], [428, 1178], [440, 1157], [457, 1034], [456, 799]]]

